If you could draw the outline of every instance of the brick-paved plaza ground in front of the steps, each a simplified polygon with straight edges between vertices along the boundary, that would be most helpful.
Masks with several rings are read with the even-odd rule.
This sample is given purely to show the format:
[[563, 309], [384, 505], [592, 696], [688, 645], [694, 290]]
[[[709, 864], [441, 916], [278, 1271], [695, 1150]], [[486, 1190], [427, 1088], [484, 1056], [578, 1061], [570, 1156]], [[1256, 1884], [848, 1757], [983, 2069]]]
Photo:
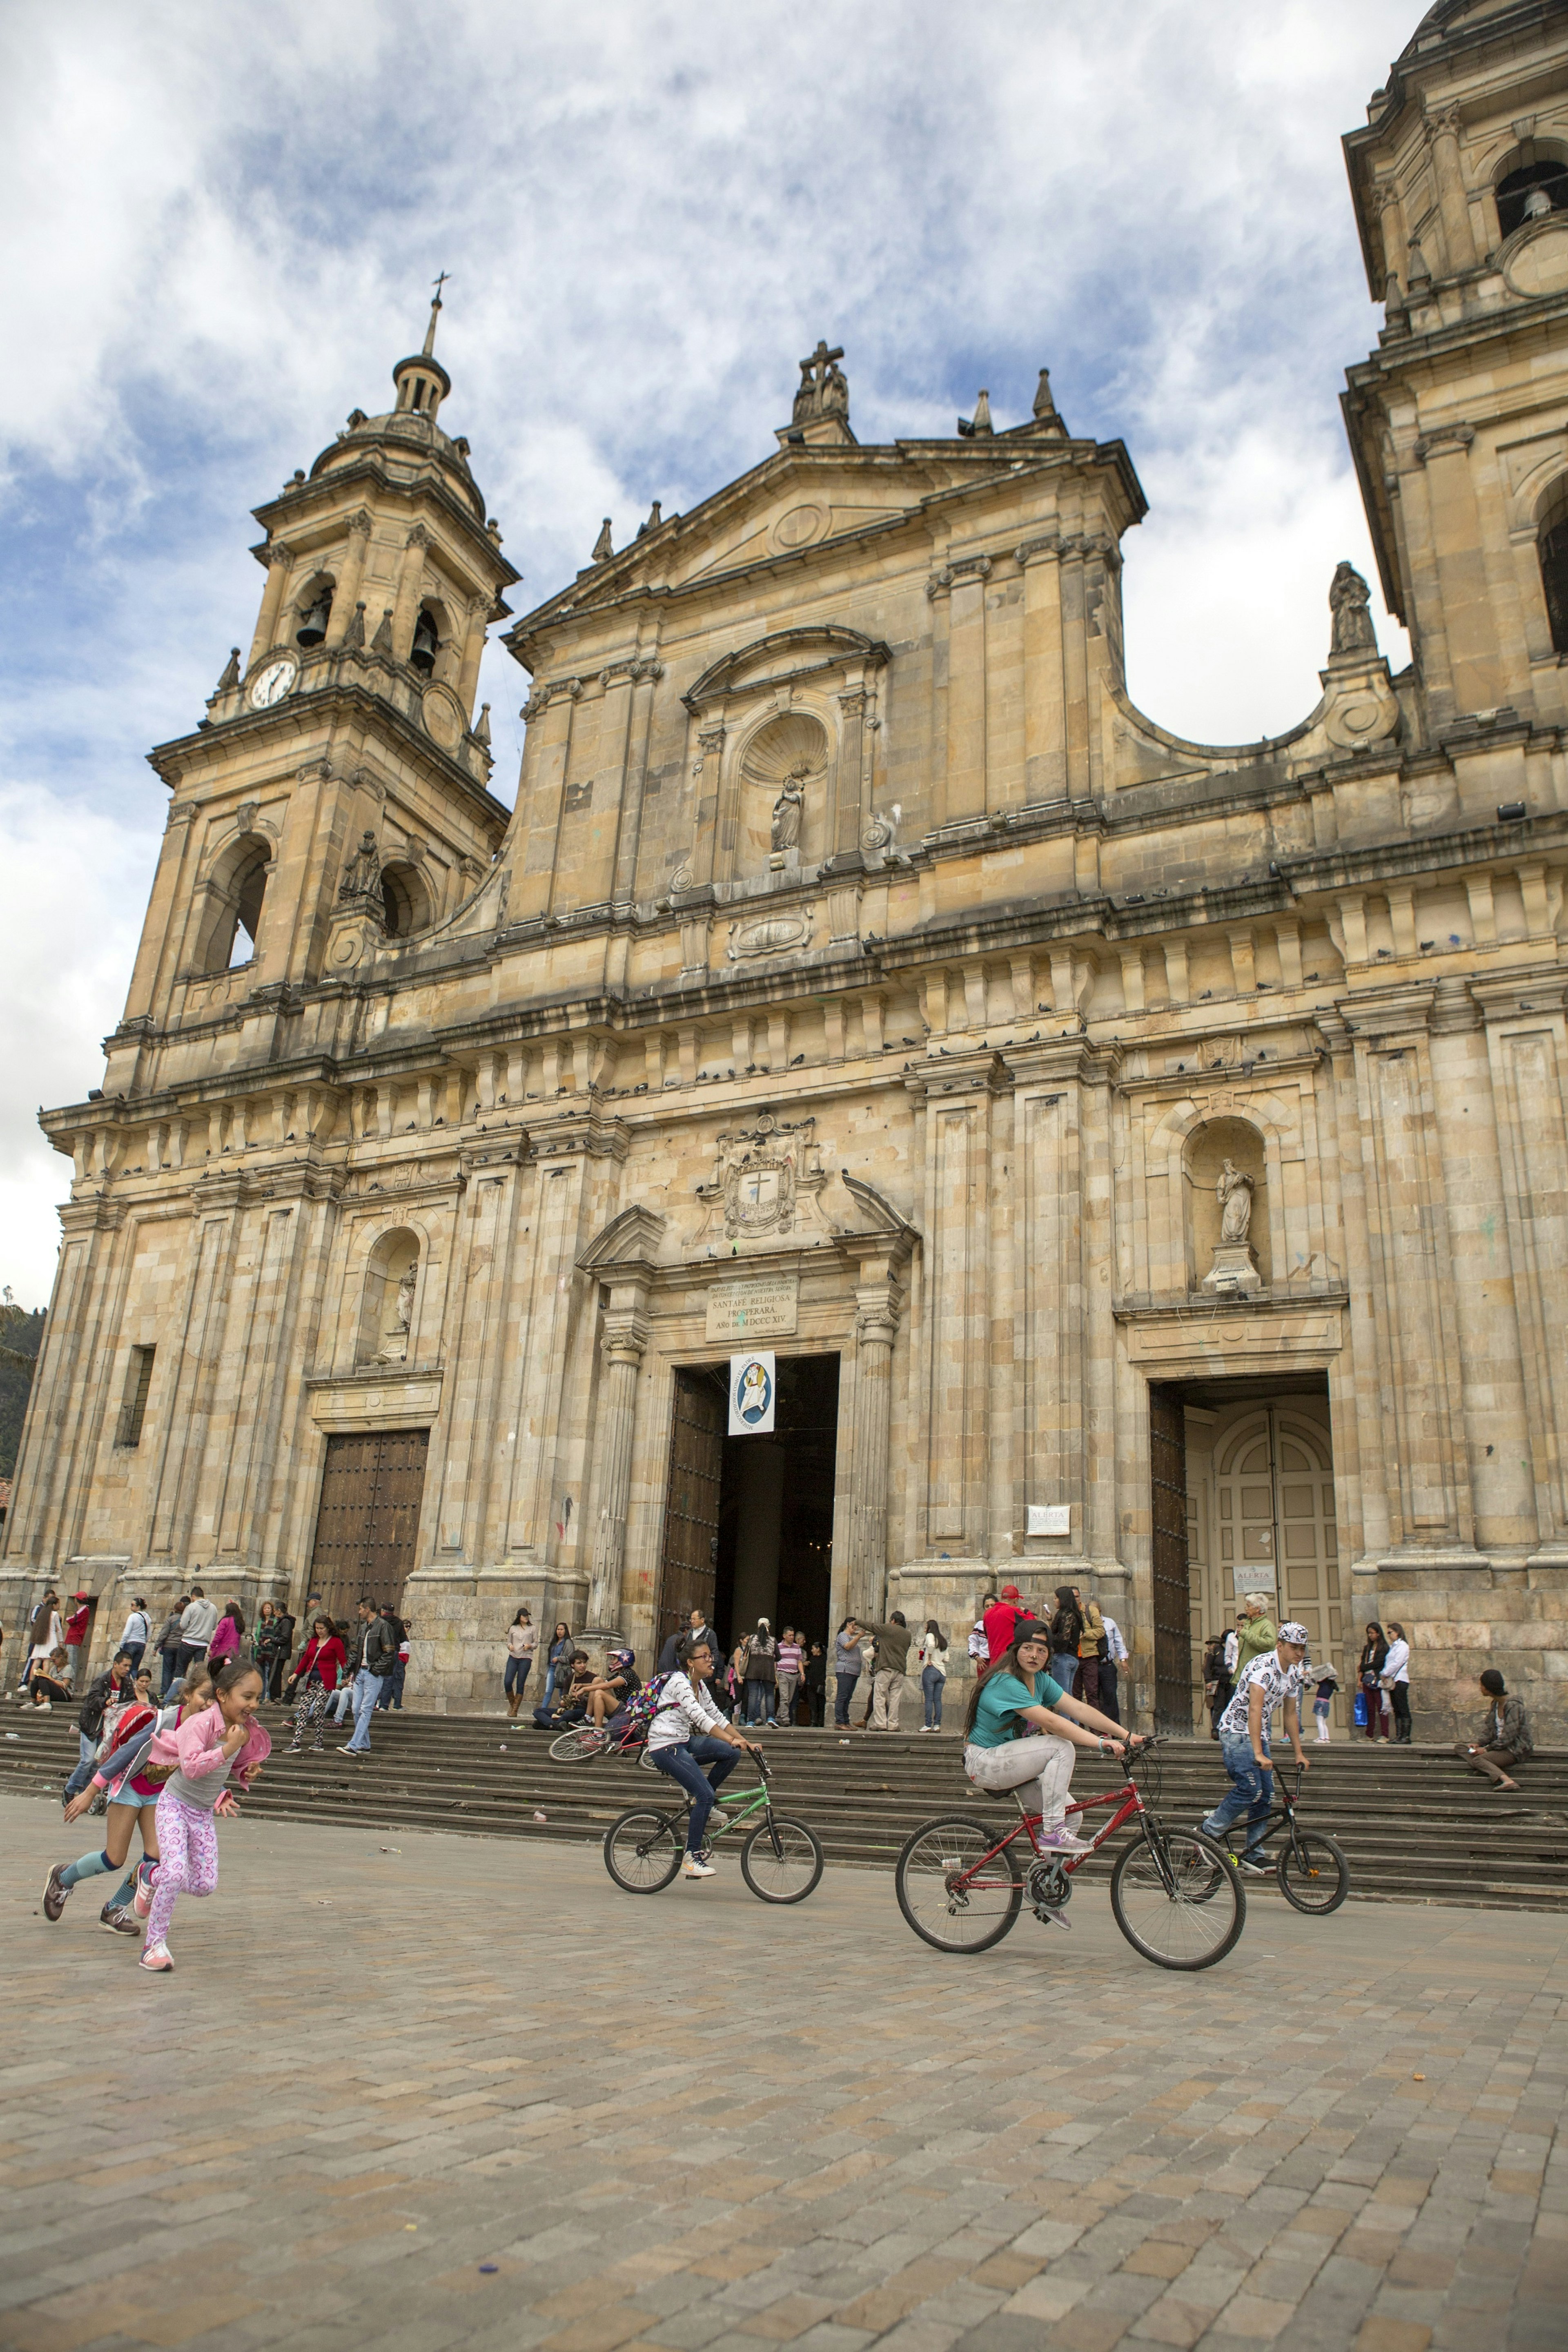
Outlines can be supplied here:
[[1566, 1919], [1265, 1898], [1180, 1978], [1103, 1889], [964, 1962], [884, 1875], [254, 1820], [146, 1978], [42, 1919], [85, 1844], [0, 1799], [7, 2352], [1568, 2345]]

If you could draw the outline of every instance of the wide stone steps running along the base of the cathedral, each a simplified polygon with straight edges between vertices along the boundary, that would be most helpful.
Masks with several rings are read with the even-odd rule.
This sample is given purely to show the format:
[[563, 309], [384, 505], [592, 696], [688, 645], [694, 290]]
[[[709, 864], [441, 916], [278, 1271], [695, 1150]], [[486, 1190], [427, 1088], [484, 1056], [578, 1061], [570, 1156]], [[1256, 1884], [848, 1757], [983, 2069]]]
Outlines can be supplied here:
[[[331, 1740], [322, 1757], [282, 1755], [287, 1717], [268, 1708], [266, 1722], [277, 1748], [247, 1811], [277, 1820], [583, 1844], [597, 1842], [625, 1806], [668, 1802], [668, 1785], [637, 1764], [616, 1757], [555, 1764], [541, 1731], [505, 1717], [378, 1715], [374, 1750], [362, 1764], [341, 1757]], [[0, 1733], [0, 1795], [59, 1799], [78, 1755], [75, 1719], [7, 1705]], [[336, 1733], [336, 1743], [343, 1736]], [[771, 1731], [766, 1755], [773, 1802], [816, 1828], [832, 1863], [886, 1870], [910, 1830], [938, 1811], [1006, 1818], [999, 1804], [969, 1788], [950, 1733], [856, 1731], [842, 1745], [835, 1731]], [[1495, 1792], [1436, 1748], [1359, 1740], [1309, 1748], [1309, 1755], [1305, 1818], [1342, 1844], [1352, 1896], [1568, 1907], [1566, 1750], [1537, 1755], [1516, 1797]], [[741, 1766], [731, 1788], [745, 1778]], [[1112, 1766], [1081, 1759], [1074, 1795], [1095, 1788], [1114, 1788]], [[1222, 1788], [1211, 1740], [1171, 1740], [1145, 1780], [1154, 1809], [1173, 1820], [1199, 1820]], [[1095, 1858], [1088, 1867], [1110, 1865]], [[1253, 1884], [1262, 1896], [1274, 1886], [1272, 1879]]]

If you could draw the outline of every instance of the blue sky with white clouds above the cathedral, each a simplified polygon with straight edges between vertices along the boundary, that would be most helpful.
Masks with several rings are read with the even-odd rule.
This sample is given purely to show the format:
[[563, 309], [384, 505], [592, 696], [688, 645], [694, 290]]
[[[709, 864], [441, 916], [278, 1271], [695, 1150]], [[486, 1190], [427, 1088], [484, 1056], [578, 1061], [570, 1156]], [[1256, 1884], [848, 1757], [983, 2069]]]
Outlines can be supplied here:
[[[165, 790], [249, 644], [249, 508], [388, 402], [451, 270], [442, 421], [517, 609], [771, 449], [846, 346], [860, 440], [1051, 367], [1124, 437], [1128, 668], [1241, 741], [1371, 572], [1338, 414], [1380, 325], [1340, 134], [1418, 0], [0, 0], [0, 1282], [47, 1298]], [[1385, 619], [1385, 649], [1406, 659]], [[491, 652], [496, 788], [524, 675]]]

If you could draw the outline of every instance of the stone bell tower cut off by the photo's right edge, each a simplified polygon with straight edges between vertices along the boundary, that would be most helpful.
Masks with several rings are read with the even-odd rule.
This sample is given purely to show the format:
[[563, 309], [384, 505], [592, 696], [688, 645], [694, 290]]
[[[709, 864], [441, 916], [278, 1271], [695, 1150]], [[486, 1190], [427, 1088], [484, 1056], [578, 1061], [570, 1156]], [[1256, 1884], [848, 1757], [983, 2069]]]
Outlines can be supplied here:
[[1490, 818], [1540, 804], [1528, 729], [1568, 717], [1568, 7], [1439, 0], [1366, 113], [1345, 153], [1387, 322], [1345, 416], [1425, 734], [1483, 739]]

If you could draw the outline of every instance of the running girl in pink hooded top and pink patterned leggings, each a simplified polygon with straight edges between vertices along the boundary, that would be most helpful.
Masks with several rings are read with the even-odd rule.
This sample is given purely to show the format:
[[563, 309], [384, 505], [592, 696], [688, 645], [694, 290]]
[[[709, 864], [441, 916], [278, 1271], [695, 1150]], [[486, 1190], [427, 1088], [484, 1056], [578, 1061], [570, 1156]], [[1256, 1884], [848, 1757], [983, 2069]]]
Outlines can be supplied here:
[[153, 1769], [172, 1764], [174, 1773], [158, 1799], [160, 1863], [146, 1886], [132, 1898], [136, 1917], [146, 1917], [148, 1938], [136, 1962], [158, 1976], [174, 1966], [169, 1957], [169, 1919], [179, 1896], [209, 1896], [219, 1884], [216, 1811], [235, 1811], [228, 1780], [249, 1788], [273, 1740], [256, 1722], [261, 1705], [261, 1668], [237, 1658], [219, 1670], [214, 1705], [186, 1717], [176, 1731], [153, 1733], [148, 1759]]

